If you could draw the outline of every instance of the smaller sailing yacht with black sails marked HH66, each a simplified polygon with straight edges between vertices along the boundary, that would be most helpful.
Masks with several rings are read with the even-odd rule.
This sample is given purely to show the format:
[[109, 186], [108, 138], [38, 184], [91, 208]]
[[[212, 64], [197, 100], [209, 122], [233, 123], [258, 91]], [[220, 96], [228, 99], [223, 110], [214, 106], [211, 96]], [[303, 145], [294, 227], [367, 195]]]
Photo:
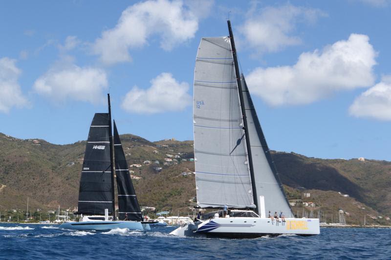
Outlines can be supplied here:
[[[109, 94], [108, 103], [109, 113], [96, 113], [88, 133], [76, 213], [81, 215], [80, 221], [63, 223], [60, 228], [150, 230], [149, 224], [142, 222], [143, 217], [115, 121], [113, 143]], [[115, 216], [114, 164], [118, 190], [118, 219]]]

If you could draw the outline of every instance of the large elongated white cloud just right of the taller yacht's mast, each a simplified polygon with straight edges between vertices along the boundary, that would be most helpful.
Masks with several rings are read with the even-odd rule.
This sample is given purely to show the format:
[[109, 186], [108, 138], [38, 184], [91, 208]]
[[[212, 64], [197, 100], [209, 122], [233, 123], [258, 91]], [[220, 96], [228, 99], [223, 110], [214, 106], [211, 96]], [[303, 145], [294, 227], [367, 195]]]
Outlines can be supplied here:
[[376, 55], [368, 36], [351, 34], [322, 51], [302, 53], [293, 66], [256, 68], [247, 81], [252, 93], [270, 105], [308, 104], [372, 85]]

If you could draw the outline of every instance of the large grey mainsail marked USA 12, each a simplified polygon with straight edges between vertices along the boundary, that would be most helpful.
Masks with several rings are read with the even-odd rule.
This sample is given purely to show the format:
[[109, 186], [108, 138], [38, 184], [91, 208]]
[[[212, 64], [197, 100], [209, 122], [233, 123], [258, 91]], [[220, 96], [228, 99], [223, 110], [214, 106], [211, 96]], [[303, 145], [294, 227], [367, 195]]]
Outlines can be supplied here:
[[195, 62], [197, 204], [254, 208], [239, 91], [228, 37], [202, 38]]

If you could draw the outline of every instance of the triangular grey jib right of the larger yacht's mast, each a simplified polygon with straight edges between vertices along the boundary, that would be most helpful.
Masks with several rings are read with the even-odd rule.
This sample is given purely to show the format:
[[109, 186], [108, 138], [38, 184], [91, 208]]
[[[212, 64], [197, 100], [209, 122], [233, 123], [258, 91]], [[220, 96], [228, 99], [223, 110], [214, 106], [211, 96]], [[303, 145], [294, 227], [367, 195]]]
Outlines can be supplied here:
[[[271, 211], [274, 213], [277, 211], [280, 213], [282, 211], [286, 217], [293, 217], [243, 74], [240, 80], [246, 111], [247, 132], [250, 138], [257, 196], [264, 196], [265, 212]], [[257, 207], [258, 209], [261, 208], [260, 201], [258, 201]]]

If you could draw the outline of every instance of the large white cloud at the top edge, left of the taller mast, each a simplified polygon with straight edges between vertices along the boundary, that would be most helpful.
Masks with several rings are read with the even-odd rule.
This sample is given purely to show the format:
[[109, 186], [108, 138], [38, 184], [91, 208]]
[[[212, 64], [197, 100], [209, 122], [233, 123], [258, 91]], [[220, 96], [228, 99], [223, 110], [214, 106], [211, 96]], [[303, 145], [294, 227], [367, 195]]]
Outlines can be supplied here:
[[117, 25], [102, 33], [92, 45], [93, 53], [106, 64], [130, 61], [129, 49], [142, 47], [152, 35], [160, 46], [171, 50], [194, 37], [198, 19], [182, 1], [148, 0], [131, 5]]

